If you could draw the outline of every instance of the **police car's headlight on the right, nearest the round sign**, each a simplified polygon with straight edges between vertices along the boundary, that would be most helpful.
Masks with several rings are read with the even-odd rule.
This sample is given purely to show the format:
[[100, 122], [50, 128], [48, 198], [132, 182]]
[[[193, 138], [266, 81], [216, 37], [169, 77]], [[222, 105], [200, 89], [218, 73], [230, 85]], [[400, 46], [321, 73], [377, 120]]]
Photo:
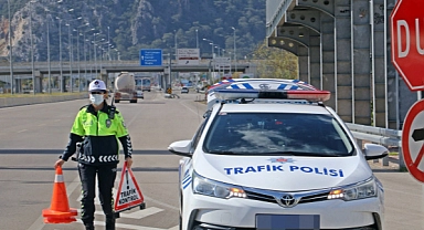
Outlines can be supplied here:
[[370, 197], [377, 197], [377, 185], [375, 179], [373, 177], [362, 184], [331, 190], [328, 195], [329, 200], [343, 199], [346, 201], [364, 199]]

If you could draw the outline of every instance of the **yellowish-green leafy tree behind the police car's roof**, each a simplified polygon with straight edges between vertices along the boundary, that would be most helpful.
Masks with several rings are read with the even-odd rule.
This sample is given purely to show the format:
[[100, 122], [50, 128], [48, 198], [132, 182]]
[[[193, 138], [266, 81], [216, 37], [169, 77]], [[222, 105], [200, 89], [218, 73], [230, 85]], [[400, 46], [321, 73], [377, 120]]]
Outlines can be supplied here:
[[[268, 48], [266, 41], [257, 46], [252, 56], [248, 56], [251, 61], [257, 62], [257, 74], [259, 77], [298, 77], [297, 56], [278, 48]], [[245, 58], [247, 59], [247, 56]]]

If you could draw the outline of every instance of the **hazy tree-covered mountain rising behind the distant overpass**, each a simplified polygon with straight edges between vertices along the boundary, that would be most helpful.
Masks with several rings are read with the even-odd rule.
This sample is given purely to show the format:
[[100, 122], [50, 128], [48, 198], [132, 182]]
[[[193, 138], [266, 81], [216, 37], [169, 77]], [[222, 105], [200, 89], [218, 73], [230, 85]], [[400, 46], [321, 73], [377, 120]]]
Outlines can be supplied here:
[[212, 49], [229, 55], [234, 52], [234, 35], [237, 59], [243, 59], [265, 39], [265, 1], [0, 0], [0, 56], [9, 55], [10, 2], [15, 61], [31, 61], [31, 31], [34, 61], [46, 61], [49, 50], [51, 60], [59, 61], [61, 45], [64, 61], [68, 53], [74, 60], [78, 53], [89, 59], [91, 41], [110, 59], [119, 52], [120, 60], [138, 60], [140, 49], [173, 53], [176, 48], [198, 44], [202, 58], [211, 58]]

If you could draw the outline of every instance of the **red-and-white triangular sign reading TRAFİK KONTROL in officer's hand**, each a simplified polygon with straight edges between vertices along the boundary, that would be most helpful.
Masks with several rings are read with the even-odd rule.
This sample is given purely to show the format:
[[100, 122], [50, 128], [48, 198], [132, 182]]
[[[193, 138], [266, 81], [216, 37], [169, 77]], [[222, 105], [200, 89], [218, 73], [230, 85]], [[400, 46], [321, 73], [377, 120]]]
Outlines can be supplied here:
[[141, 190], [137, 185], [136, 178], [125, 161], [120, 176], [118, 192], [115, 200], [115, 212], [131, 209], [141, 205], [144, 200], [145, 198], [142, 197]]

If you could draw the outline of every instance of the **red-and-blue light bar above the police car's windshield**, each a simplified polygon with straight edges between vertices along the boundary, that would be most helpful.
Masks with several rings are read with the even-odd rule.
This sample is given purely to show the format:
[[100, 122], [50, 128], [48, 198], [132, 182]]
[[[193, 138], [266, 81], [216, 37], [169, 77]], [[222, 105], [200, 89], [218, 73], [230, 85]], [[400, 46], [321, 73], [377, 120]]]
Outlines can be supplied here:
[[285, 90], [232, 90], [222, 88], [215, 92], [220, 100], [268, 98], [268, 100], [306, 100], [325, 102], [330, 98], [329, 91], [285, 91]]

